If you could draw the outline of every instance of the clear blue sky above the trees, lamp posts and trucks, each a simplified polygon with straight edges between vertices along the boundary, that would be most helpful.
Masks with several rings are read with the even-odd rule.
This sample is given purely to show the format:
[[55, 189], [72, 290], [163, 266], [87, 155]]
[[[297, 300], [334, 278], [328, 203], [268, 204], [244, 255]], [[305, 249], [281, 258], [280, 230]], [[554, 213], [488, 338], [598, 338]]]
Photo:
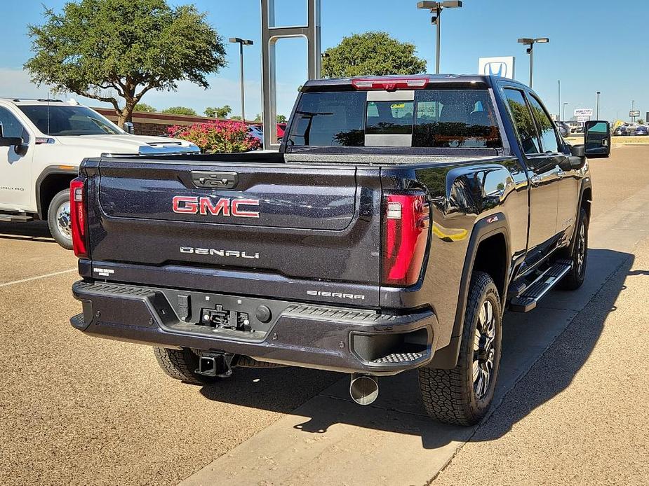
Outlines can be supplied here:
[[[170, 0], [170, 4], [192, 3]], [[255, 41], [246, 47], [246, 111], [260, 108], [260, 1], [195, 0], [208, 21], [227, 40], [238, 36]], [[0, 33], [0, 96], [44, 97], [46, 87], [36, 88], [22, 71], [29, 58], [27, 24], [39, 24], [42, 5], [60, 10], [64, 0], [0, 0], [4, 14]], [[368, 4], [372, 7], [368, 8]], [[343, 36], [384, 30], [417, 46], [417, 53], [434, 71], [434, 28], [429, 14], [415, 8], [416, 0], [322, 0], [323, 50]], [[300, 24], [306, 18], [306, 2], [276, 0], [278, 25]], [[464, 0], [460, 10], [443, 13], [441, 71], [475, 73], [481, 56], [516, 56], [516, 78], [528, 81], [528, 62], [518, 37], [549, 37], [535, 47], [534, 88], [549, 111], [558, 110], [557, 80], [562, 102], [568, 102], [566, 118], [575, 108], [594, 108], [601, 91], [601, 118], [628, 118], [631, 100], [642, 118], [649, 111], [649, 1], [610, 0]], [[109, 33], [107, 33], [109, 35]], [[306, 73], [306, 46], [300, 39], [279, 42], [278, 113], [288, 115], [297, 87]], [[199, 113], [206, 106], [229, 104], [239, 113], [238, 46], [227, 45], [229, 66], [210, 76], [210, 90], [181, 83], [178, 92], [149, 92], [142, 100], [158, 109], [190, 106]], [[98, 102], [89, 102], [97, 106]], [[234, 114], [233, 113], [233, 114]]]

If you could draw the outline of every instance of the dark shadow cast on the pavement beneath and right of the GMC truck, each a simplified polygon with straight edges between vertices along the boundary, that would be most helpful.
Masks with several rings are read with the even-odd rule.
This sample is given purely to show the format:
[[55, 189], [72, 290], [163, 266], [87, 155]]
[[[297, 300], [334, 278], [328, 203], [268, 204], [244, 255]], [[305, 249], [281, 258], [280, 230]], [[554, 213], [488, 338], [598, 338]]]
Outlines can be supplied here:
[[[595, 347], [606, 317], [615, 312], [615, 300], [626, 288], [624, 279], [627, 275], [638, 275], [637, 270], [629, 274], [633, 261], [629, 254], [590, 249], [589, 270], [593, 280], [582, 289], [574, 293], [555, 291], [528, 314], [506, 312], [494, 406], [477, 427], [450, 426], [429, 419], [420, 401], [416, 371], [381, 377], [380, 396], [367, 407], [351, 401], [349, 379], [341, 380], [343, 375], [301, 368], [239, 368], [226, 387], [203, 387], [201, 393], [210, 400], [309, 417], [293, 426], [307, 433], [326, 433], [332, 425], [351, 424], [419, 435], [424, 449], [436, 449], [454, 441], [500, 438], [516, 422], [570, 385]], [[601, 270], [606, 265], [613, 273]], [[613, 271], [615, 268], [617, 271]], [[239, 380], [257, 379], [255, 393], [250, 393], [246, 385], [236, 384]], [[248, 392], [236, 392], [241, 388]], [[295, 400], [286, 398], [293, 394], [305, 396], [305, 400], [319, 395], [294, 409], [291, 404]]]

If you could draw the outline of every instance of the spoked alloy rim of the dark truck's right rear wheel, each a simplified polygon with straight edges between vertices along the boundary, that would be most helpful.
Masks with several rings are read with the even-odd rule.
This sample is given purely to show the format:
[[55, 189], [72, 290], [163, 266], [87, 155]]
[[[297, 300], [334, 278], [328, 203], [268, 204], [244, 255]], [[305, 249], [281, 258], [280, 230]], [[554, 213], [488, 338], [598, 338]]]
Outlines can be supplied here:
[[491, 382], [495, 358], [495, 338], [493, 305], [489, 300], [485, 300], [478, 315], [473, 345], [473, 387], [478, 399], [487, 394]]

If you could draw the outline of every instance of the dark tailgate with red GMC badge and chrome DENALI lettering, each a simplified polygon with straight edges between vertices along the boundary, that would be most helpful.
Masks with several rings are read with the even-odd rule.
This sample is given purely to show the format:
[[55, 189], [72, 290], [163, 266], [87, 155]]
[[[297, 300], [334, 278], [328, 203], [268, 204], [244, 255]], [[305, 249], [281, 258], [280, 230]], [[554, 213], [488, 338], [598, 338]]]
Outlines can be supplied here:
[[378, 305], [378, 168], [102, 159], [86, 172], [93, 268], [113, 270], [95, 277]]

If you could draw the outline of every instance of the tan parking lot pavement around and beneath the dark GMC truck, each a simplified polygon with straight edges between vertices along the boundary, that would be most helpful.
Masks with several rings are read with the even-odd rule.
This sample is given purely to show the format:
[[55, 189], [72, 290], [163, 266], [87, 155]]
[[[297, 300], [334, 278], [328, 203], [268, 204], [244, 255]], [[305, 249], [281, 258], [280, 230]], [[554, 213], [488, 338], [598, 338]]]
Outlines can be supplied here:
[[412, 374], [382, 380], [368, 408], [342, 375], [300, 368], [171, 380], [151, 349], [69, 326], [72, 252], [42, 223], [1, 223], [0, 482], [645, 484], [648, 164], [649, 146], [591, 161], [587, 285], [507, 314], [509, 361], [478, 429], [423, 417]]

